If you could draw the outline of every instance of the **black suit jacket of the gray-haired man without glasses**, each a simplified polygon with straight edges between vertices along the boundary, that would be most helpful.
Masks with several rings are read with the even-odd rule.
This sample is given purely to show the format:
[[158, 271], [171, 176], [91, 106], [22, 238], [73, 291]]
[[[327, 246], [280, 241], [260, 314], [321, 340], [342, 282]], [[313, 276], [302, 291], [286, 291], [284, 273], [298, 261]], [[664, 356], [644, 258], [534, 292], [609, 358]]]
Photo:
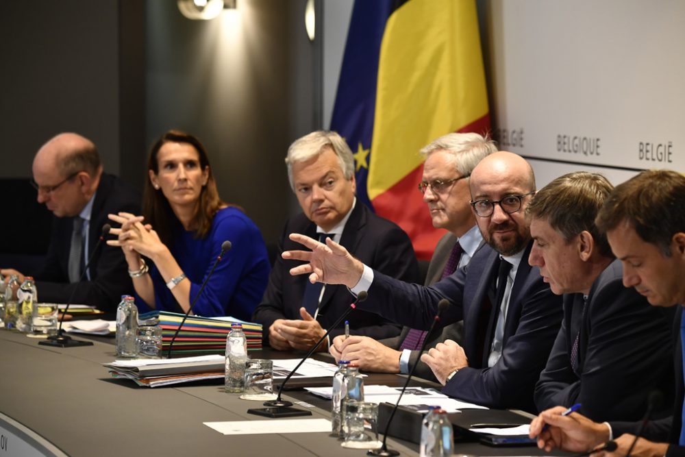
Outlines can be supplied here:
[[[297, 214], [287, 223], [279, 242], [278, 252], [301, 249], [301, 245], [291, 241], [288, 235], [300, 233], [316, 238], [316, 225], [303, 214]], [[419, 266], [409, 237], [394, 223], [376, 216], [357, 201], [352, 210], [340, 244], [369, 266], [403, 281], [415, 281], [419, 277]], [[262, 302], [252, 314], [252, 320], [264, 326], [264, 343], [269, 344], [269, 331], [276, 319], [301, 319], [299, 308], [302, 306], [307, 275], [292, 276], [288, 272], [302, 262], [284, 260], [277, 256], [269, 285]], [[353, 297], [343, 285], [327, 284], [316, 319], [321, 327], [328, 329], [340, 317]], [[352, 334], [371, 336], [379, 339], [399, 334], [399, 325], [380, 317], [373, 312], [357, 308], [347, 319]], [[332, 330], [331, 338], [343, 334], [343, 325]]]

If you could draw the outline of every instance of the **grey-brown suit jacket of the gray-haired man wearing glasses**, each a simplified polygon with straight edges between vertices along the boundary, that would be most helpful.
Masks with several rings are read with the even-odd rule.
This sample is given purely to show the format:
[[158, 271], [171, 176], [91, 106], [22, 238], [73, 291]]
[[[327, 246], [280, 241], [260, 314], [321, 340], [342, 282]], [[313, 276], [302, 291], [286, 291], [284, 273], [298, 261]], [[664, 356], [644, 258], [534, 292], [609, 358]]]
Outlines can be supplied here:
[[[430, 260], [430, 264], [428, 265], [428, 273], [426, 275], [426, 280], [424, 282], [426, 286], [435, 284], [443, 276], [443, 270], [445, 270], [445, 264], [447, 264], [449, 254], [451, 254], [452, 248], [454, 247], [454, 243], [456, 243], [458, 239], [459, 238], [457, 236], [449, 232], [445, 234], [443, 238], [440, 238], [438, 244], [435, 247], [433, 257]], [[393, 349], [399, 351], [399, 348], [401, 347], [404, 338], [406, 338], [410, 330], [411, 327], [405, 325], [402, 328], [402, 331], [400, 332], [399, 336], [394, 336], [393, 338], [385, 338], [384, 340], [381, 340], [380, 343], [383, 343], [384, 345], [392, 347]], [[426, 347], [435, 347], [438, 343], [442, 343], [445, 340], [453, 340], [457, 343], [461, 343], [463, 335], [464, 322], [454, 322], [449, 325], [445, 325], [441, 332], [436, 330], [435, 336], [429, 339]], [[409, 367], [413, 367], [414, 364], [418, 362], [419, 365], [416, 365], [414, 375], [426, 380], [437, 381], [435, 375], [433, 374], [433, 370], [430, 369], [428, 365], [421, 362], [421, 354], [421, 351], [418, 350], [411, 351], [411, 354], [409, 356]]]

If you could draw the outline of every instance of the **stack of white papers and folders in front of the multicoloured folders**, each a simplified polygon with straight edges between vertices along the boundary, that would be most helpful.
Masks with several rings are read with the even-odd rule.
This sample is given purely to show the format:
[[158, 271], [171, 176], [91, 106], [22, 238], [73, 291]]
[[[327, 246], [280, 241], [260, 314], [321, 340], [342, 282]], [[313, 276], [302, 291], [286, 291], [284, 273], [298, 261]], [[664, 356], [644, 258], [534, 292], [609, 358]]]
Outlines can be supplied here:
[[134, 380], [139, 386], [146, 387], [223, 379], [224, 364], [224, 356], [115, 360], [103, 363], [110, 369], [112, 377]]

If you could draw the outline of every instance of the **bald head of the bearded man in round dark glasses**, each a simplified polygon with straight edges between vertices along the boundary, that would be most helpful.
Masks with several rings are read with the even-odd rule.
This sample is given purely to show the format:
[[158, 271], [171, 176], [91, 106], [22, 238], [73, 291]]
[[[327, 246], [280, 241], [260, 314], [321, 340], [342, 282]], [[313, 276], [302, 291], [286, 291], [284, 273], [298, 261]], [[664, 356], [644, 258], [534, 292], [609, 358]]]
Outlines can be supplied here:
[[471, 202], [479, 202], [479, 212], [486, 214], [474, 210], [484, 240], [503, 256], [525, 249], [530, 241], [525, 207], [535, 192], [530, 164], [511, 152], [492, 153], [473, 169], [469, 189]]

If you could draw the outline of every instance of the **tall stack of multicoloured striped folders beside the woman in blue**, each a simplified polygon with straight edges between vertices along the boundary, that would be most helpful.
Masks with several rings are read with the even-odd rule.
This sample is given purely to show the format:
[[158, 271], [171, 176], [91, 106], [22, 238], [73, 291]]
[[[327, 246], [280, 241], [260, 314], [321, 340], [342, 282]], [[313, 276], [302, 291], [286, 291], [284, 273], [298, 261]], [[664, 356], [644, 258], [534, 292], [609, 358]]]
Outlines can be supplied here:
[[[166, 355], [169, 343], [183, 320], [183, 314], [167, 311], [153, 311], [140, 315], [139, 319], [158, 319], [162, 328], [162, 351]], [[206, 354], [225, 354], [226, 336], [232, 323], [241, 323], [247, 338], [247, 350], [262, 349], [262, 325], [235, 319], [233, 317], [199, 317], [186, 319], [173, 343], [173, 354], [178, 356], [199, 356]]]

